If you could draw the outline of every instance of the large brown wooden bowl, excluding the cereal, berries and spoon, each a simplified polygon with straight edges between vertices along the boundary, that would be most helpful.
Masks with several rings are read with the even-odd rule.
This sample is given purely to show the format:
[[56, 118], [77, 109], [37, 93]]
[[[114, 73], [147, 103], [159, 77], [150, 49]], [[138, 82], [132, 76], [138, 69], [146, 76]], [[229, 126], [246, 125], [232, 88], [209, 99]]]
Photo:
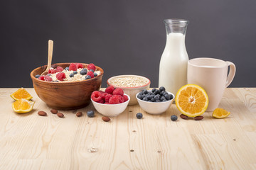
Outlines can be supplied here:
[[[65, 69], [70, 63], [57, 63], [56, 65]], [[87, 65], [88, 64], [83, 64], [84, 67], [87, 67]], [[58, 110], [73, 110], [87, 106], [90, 103], [92, 92], [100, 89], [104, 74], [103, 69], [96, 66], [96, 69], [99, 70], [101, 74], [92, 79], [75, 82], [53, 82], [36, 79], [36, 74], [41, 74], [46, 67], [47, 65], [44, 65], [31, 72], [33, 88], [38, 97], [41, 98], [48, 107]]]

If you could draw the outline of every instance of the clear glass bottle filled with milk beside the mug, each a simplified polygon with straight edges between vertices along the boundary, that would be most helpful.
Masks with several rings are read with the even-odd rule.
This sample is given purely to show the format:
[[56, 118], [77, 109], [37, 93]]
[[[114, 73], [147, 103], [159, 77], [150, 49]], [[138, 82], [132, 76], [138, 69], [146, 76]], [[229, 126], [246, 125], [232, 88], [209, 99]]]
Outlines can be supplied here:
[[183, 19], [166, 19], [166, 46], [161, 55], [159, 66], [159, 87], [176, 95], [181, 86], [187, 84], [188, 53], [185, 35], [188, 21]]

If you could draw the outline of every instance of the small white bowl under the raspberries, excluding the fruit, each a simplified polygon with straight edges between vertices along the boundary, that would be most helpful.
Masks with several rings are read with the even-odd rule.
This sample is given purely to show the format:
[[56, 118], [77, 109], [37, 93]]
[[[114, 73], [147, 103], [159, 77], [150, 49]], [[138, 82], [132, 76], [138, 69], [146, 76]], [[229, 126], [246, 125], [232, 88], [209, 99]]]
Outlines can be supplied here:
[[124, 94], [124, 95], [128, 96], [128, 101], [125, 101], [124, 103], [119, 103], [119, 104], [97, 103], [95, 101], [92, 101], [92, 98], [91, 98], [91, 101], [97, 112], [108, 117], [113, 117], [113, 116], [119, 115], [127, 108], [128, 103], [130, 101], [130, 97], [127, 94]]

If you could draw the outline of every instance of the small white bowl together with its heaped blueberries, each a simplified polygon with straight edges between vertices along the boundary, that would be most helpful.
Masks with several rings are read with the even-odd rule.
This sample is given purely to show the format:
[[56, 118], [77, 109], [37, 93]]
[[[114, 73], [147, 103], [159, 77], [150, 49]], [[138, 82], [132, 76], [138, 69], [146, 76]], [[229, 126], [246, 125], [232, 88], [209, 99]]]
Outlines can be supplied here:
[[136, 98], [143, 111], [152, 115], [159, 115], [167, 111], [175, 96], [166, 91], [164, 86], [161, 86], [159, 89], [142, 90], [136, 94]]

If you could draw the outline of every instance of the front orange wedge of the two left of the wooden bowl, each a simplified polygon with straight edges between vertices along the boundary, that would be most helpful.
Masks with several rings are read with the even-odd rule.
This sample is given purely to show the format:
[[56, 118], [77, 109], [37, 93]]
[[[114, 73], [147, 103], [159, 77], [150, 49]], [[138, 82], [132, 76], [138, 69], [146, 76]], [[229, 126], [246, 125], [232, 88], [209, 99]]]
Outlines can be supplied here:
[[28, 113], [32, 111], [33, 109], [33, 104], [35, 102], [33, 101], [28, 101], [24, 98], [18, 99], [18, 101], [14, 101], [12, 104], [12, 108], [16, 113]]

